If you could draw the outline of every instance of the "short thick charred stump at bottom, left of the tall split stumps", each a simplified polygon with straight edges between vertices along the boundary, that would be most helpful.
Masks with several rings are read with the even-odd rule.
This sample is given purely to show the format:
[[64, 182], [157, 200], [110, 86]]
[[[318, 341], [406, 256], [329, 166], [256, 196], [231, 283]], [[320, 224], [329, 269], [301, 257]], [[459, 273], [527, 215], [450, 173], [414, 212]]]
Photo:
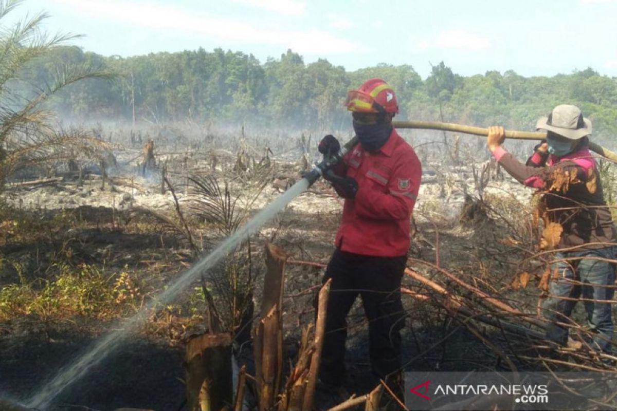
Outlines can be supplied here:
[[184, 368], [189, 411], [219, 411], [233, 404], [231, 335], [192, 338], [186, 346]]

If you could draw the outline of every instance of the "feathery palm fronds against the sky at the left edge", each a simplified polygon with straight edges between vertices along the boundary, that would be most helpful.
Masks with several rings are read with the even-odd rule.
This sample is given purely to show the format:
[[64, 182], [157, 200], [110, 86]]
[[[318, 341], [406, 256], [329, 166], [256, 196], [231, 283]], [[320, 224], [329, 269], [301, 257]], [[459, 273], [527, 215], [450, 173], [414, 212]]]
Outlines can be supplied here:
[[[72, 83], [114, 75], [88, 65], [60, 65], [50, 81], [29, 80], [28, 68], [44, 59], [54, 47], [78, 35], [49, 36], [41, 30], [48, 18], [42, 12], [10, 27], [2, 24], [22, 0], [0, 0], [0, 187], [16, 169], [75, 155], [99, 157], [104, 142], [87, 132], [62, 130], [44, 103]], [[36, 76], [35, 76], [36, 78]]]

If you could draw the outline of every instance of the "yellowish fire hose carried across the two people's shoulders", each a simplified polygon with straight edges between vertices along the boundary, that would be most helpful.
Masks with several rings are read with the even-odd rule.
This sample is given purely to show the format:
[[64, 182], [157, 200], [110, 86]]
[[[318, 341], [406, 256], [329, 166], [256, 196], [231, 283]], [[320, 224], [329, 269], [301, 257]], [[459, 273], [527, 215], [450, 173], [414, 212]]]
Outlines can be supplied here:
[[[392, 121], [394, 128], [416, 128], [428, 130], [442, 130], [463, 132], [465, 134], [473, 134], [474, 136], [487, 136], [489, 129], [482, 127], [466, 126], [465, 124], [454, 123], [439, 123], [436, 121]], [[507, 139], [516, 140], [544, 140], [546, 138], [545, 131], [512, 131], [506, 130], [505, 137]], [[598, 153], [608, 160], [617, 162], [617, 154], [611, 150], [602, 147], [601, 145], [589, 142], [589, 150]]]

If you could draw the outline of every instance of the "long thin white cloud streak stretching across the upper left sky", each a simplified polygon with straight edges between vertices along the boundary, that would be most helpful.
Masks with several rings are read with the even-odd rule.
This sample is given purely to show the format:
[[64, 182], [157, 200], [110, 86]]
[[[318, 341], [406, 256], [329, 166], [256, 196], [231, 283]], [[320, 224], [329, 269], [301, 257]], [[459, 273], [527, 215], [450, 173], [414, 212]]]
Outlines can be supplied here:
[[276, 31], [220, 17], [188, 13], [176, 7], [138, 4], [120, 0], [59, 0], [89, 17], [108, 18], [157, 30], [183, 31], [245, 43], [269, 43], [300, 53], [350, 52], [357, 44], [325, 31]]

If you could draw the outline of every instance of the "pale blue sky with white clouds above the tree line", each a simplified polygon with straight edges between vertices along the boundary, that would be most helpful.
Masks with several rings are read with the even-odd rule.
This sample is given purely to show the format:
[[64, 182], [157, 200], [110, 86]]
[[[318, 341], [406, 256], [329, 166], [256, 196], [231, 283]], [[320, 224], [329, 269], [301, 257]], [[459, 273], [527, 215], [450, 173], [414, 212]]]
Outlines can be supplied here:
[[617, 0], [25, 0], [3, 23], [43, 10], [47, 31], [104, 55], [222, 47], [265, 62], [291, 48], [306, 63], [409, 64], [423, 78], [441, 60], [466, 76], [617, 76]]

